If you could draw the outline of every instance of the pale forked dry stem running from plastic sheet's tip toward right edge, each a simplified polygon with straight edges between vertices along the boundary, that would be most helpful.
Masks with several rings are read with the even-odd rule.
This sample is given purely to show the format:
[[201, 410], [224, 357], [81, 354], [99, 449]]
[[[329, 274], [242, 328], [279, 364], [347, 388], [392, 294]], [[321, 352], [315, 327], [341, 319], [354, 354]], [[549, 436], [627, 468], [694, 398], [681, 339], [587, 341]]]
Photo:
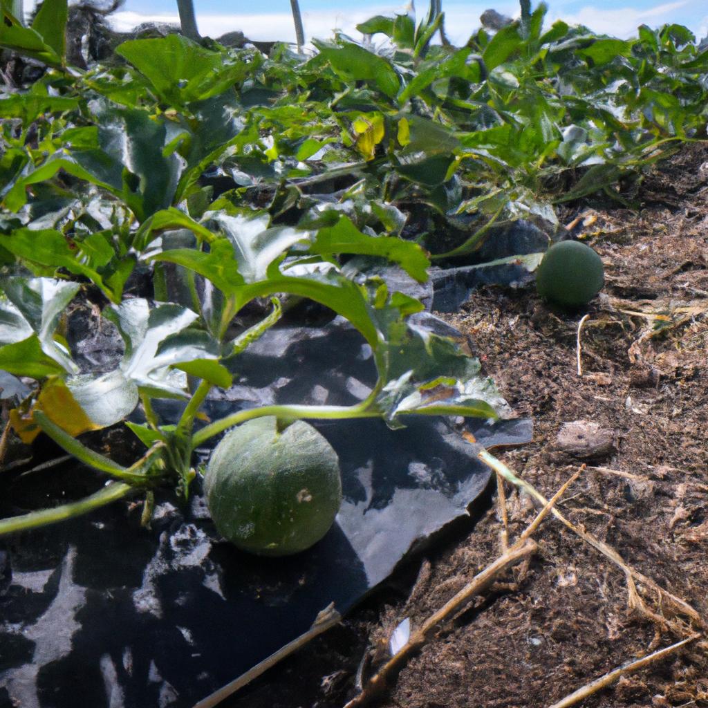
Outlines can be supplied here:
[[[506, 466], [506, 464], [501, 462], [500, 459], [497, 459], [493, 455], [490, 455], [489, 452], [484, 450], [484, 448], [482, 448], [477, 453], [477, 457], [479, 457], [479, 459], [481, 459], [484, 464], [488, 465], [489, 467], [491, 467], [491, 469], [495, 470], [495, 472], [499, 472], [504, 477], [504, 479], [507, 479], [515, 486], [518, 486], [520, 489], [523, 489], [527, 494], [535, 498], [540, 503], [544, 505], [548, 503], [547, 499], [542, 495], [542, 493], [537, 491], [534, 486], [529, 484], [524, 479], [521, 479], [520, 477], [516, 476]], [[613, 563], [619, 566], [620, 569], [622, 569], [625, 578], [627, 578], [627, 593], [629, 595], [630, 607], [637, 607], [639, 610], [646, 612], [646, 614], [652, 617], [652, 619], [659, 619], [661, 620], [661, 622], [666, 622], [665, 619], [658, 617], [658, 615], [646, 608], [644, 602], [641, 600], [641, 598], [639, 598], [639, 595], [636, 592], [636, 585], [634, 583], [634, 581], [636, 580], [639, 583], [643, 583], [647, 588], [653, 590], [660, 599], [663, 598], [665, 600], [669, 600], [670, 604], [672, 604], [675, 609], [678, 610], [678, 612], [683, 615], [686, 615], [687, 617], [690, 617], [694, 622], [699, 624], [700, 627], [705, 626], [702, 617], [698, 614], [698, 612], [696, 612], [696, 610], [693, 609], [693, 607], [691, 607], [687, 602], [685, 602], [685, 600], [681, 600], [681, 598], [676, 597], [676, 595], [673, 595], [673, 593], [668, 592], [668, 590], [664, 590], [656, 582], [651, 580], [651, 578], [647, 578], [644, 574], [632, 568], [632, 566], [627, 565], [627, 563], [625, 563], [622, 559], [622, 556], [620, 556], [619, 553], [615, 551], [615, 549], [608, 546], [604, 541], [600, 541], [600, 539], [595, 538], [586, 530], [583, 530], [575, 524], [571, 523], [571, 521], [566, 519], [564, 515], [562, 515], [556, 508], [552, 508], [551, 513], [562, 524], [564, 524], [571, 531], [580, 536], [583, 541], [592, 546], [594, 549], [598, 550], [606, 558], [610, 559]]]

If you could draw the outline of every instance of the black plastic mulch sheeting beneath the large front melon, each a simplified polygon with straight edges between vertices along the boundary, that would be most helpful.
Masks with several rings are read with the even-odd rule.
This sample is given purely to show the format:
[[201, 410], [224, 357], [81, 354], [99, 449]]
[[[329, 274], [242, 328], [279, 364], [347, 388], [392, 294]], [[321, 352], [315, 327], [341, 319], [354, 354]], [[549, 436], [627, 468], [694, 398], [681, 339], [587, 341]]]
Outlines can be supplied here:
[[[460, 336], [430, 314], [416, 317]], [[208, 412], [353, 404], [374, 379], [370, 350], [341, 319], [272, 329]], [[467, 515], [489, 481], [462, 424], [406, 422], [315, 423], [341, 459], [344, 501], [328, 535], [297, 556], [239, 552], [219, 538], [198, 493], [183, 508], [161, 498], [149, 529], [140, 505], [126, 502], [9, 539], [0, 552], [0, 706], [190, 707], [307, 632], [331, 603], [349, 610], [411, 548]], [[484, 445], [530, 440], [529, 421], [464, 425]], [[101, 484], [74, 465], [51, 473], [49, 486], [16, 479], [0, 495], [1, 513]], [[55, 498], [32, 498], [37, 489]]]

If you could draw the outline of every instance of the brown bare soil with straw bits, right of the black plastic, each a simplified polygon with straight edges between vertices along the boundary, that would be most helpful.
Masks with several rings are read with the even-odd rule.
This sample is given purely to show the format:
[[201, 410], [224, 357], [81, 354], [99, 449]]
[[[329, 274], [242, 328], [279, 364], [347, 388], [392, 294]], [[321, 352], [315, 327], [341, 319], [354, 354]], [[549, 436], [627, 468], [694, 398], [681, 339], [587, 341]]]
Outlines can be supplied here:
[[[559, 510], [708, 617], [708, 147], [686, 147], [655, 169], [638, 198], [639, 210], [585, 205], [563, 215], [568, 224], [580, 217], [573, 234], [605, 263], [605, 290], [587, 309], [556, 311], [532, 288], [488, 288], [447, 319], [472, 338], [515, 411], [535, 423], [532, 444], [492, 452], [547, 497], [586, 464]], [[557, 436], [572, 421], [597, 423], [610, 444], [594, 458], [567, 452]], [[537, 506], [506, 489], [513, 539]], [[341, 626], [225, 705], [345, 704], [363, 656], [375, 668], [404, 617], [419, 626], [501, 553], [495, 491], [489, 501], [486, 513], [413, 559]], [[623, 663], [704, 632], [641, 583], [644, 609], [637, 607], [617, 565], [555, 520], [535, 539], [530, 562], [426, 644], [379, 705], [548, 707]], [[582, 704], [708, 707], [707, 646], [698, 639]]]

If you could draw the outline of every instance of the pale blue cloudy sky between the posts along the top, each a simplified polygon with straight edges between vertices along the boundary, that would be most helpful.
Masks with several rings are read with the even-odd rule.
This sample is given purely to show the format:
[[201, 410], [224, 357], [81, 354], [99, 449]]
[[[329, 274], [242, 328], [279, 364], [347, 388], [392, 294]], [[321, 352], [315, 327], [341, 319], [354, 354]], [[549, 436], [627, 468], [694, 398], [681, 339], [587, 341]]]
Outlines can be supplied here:
[[[305, 33], [309, 38], [331, 36], [338, 29], [358, 36], [355, 24], [375, 14], [403, 12], [406, 1], [299, 0]], [[257, 4], [239, 0], [194, 0], [197, 21], [203, 35], [216, 37], [242, 30], [253, 40], [294, 40], [290, 2], [259, 0]], [[537, 3], [534, 2], [534, 5]], [[547, 18], [582, 23], [599, 33], [627, 38], [641, 24], [652, 27], [664, 23], [686, 25], [702, 38], [708, 34], [708, 3], [704, 0], [547, 0]], [[427, 2], [418, 0], [423, 14]], [[514, 16], [518, 0], [442, 0], [447, 34], [455, 43], [464, 43], [479, 28], [479, 15], [489, 7]], [[129, 29], [147, 19], [177, 21], [176, 0], [126, 0], [115, 14], [115, 25]]]

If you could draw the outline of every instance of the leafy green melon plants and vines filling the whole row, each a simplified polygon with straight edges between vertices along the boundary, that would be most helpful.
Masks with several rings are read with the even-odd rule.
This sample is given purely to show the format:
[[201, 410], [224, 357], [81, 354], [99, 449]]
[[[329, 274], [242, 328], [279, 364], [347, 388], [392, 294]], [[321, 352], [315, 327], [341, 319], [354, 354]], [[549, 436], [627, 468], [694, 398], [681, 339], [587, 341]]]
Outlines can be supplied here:
[[[0, 534], [136, 491], [149, 510], [166, 481], [185, 496], [195, 447], [251, 418], [496, 417], [479, 362], [409, 326], [422, 304], [372, 267], [423, 282], [431, 263], [474, 261], [492, 224], [528, 219], [552, 235], [554, 203], [623, 199], [618, 185], [706, 137], [708, 52], [688, 30], [617, 40], [544, 29], [545, 11], [464, 47], [432, 43], [441, 13], [375, 17], [359, 25], [365, 42], [337, 35], [307, 55], [139, 39], [84, 72], [66, 65], [66, 0], [45, 0], [29, 28], [4, 8], [0, 46], [47, 65], [0, 98], [0, 369], [36, 382], [9, 425], [115, 481], [2, 520]], [[137, 282], [149, 292], [137, 297]], [[72, 355], [62, 328], [77, 297], [122, 336], [113, 370]], [[234, 326], [269, 298], [261, 321]], [[358, 329], [377, 367], [371, 394], [198, 426], [239, 355], [299, 299]], [[155, 413], [163, 398], [183, 400], [177, 421]], [[145, 422], [128, 421], [138, 408]], [[130, 467], [78, 439], [122, 421], [147, 450]]]

